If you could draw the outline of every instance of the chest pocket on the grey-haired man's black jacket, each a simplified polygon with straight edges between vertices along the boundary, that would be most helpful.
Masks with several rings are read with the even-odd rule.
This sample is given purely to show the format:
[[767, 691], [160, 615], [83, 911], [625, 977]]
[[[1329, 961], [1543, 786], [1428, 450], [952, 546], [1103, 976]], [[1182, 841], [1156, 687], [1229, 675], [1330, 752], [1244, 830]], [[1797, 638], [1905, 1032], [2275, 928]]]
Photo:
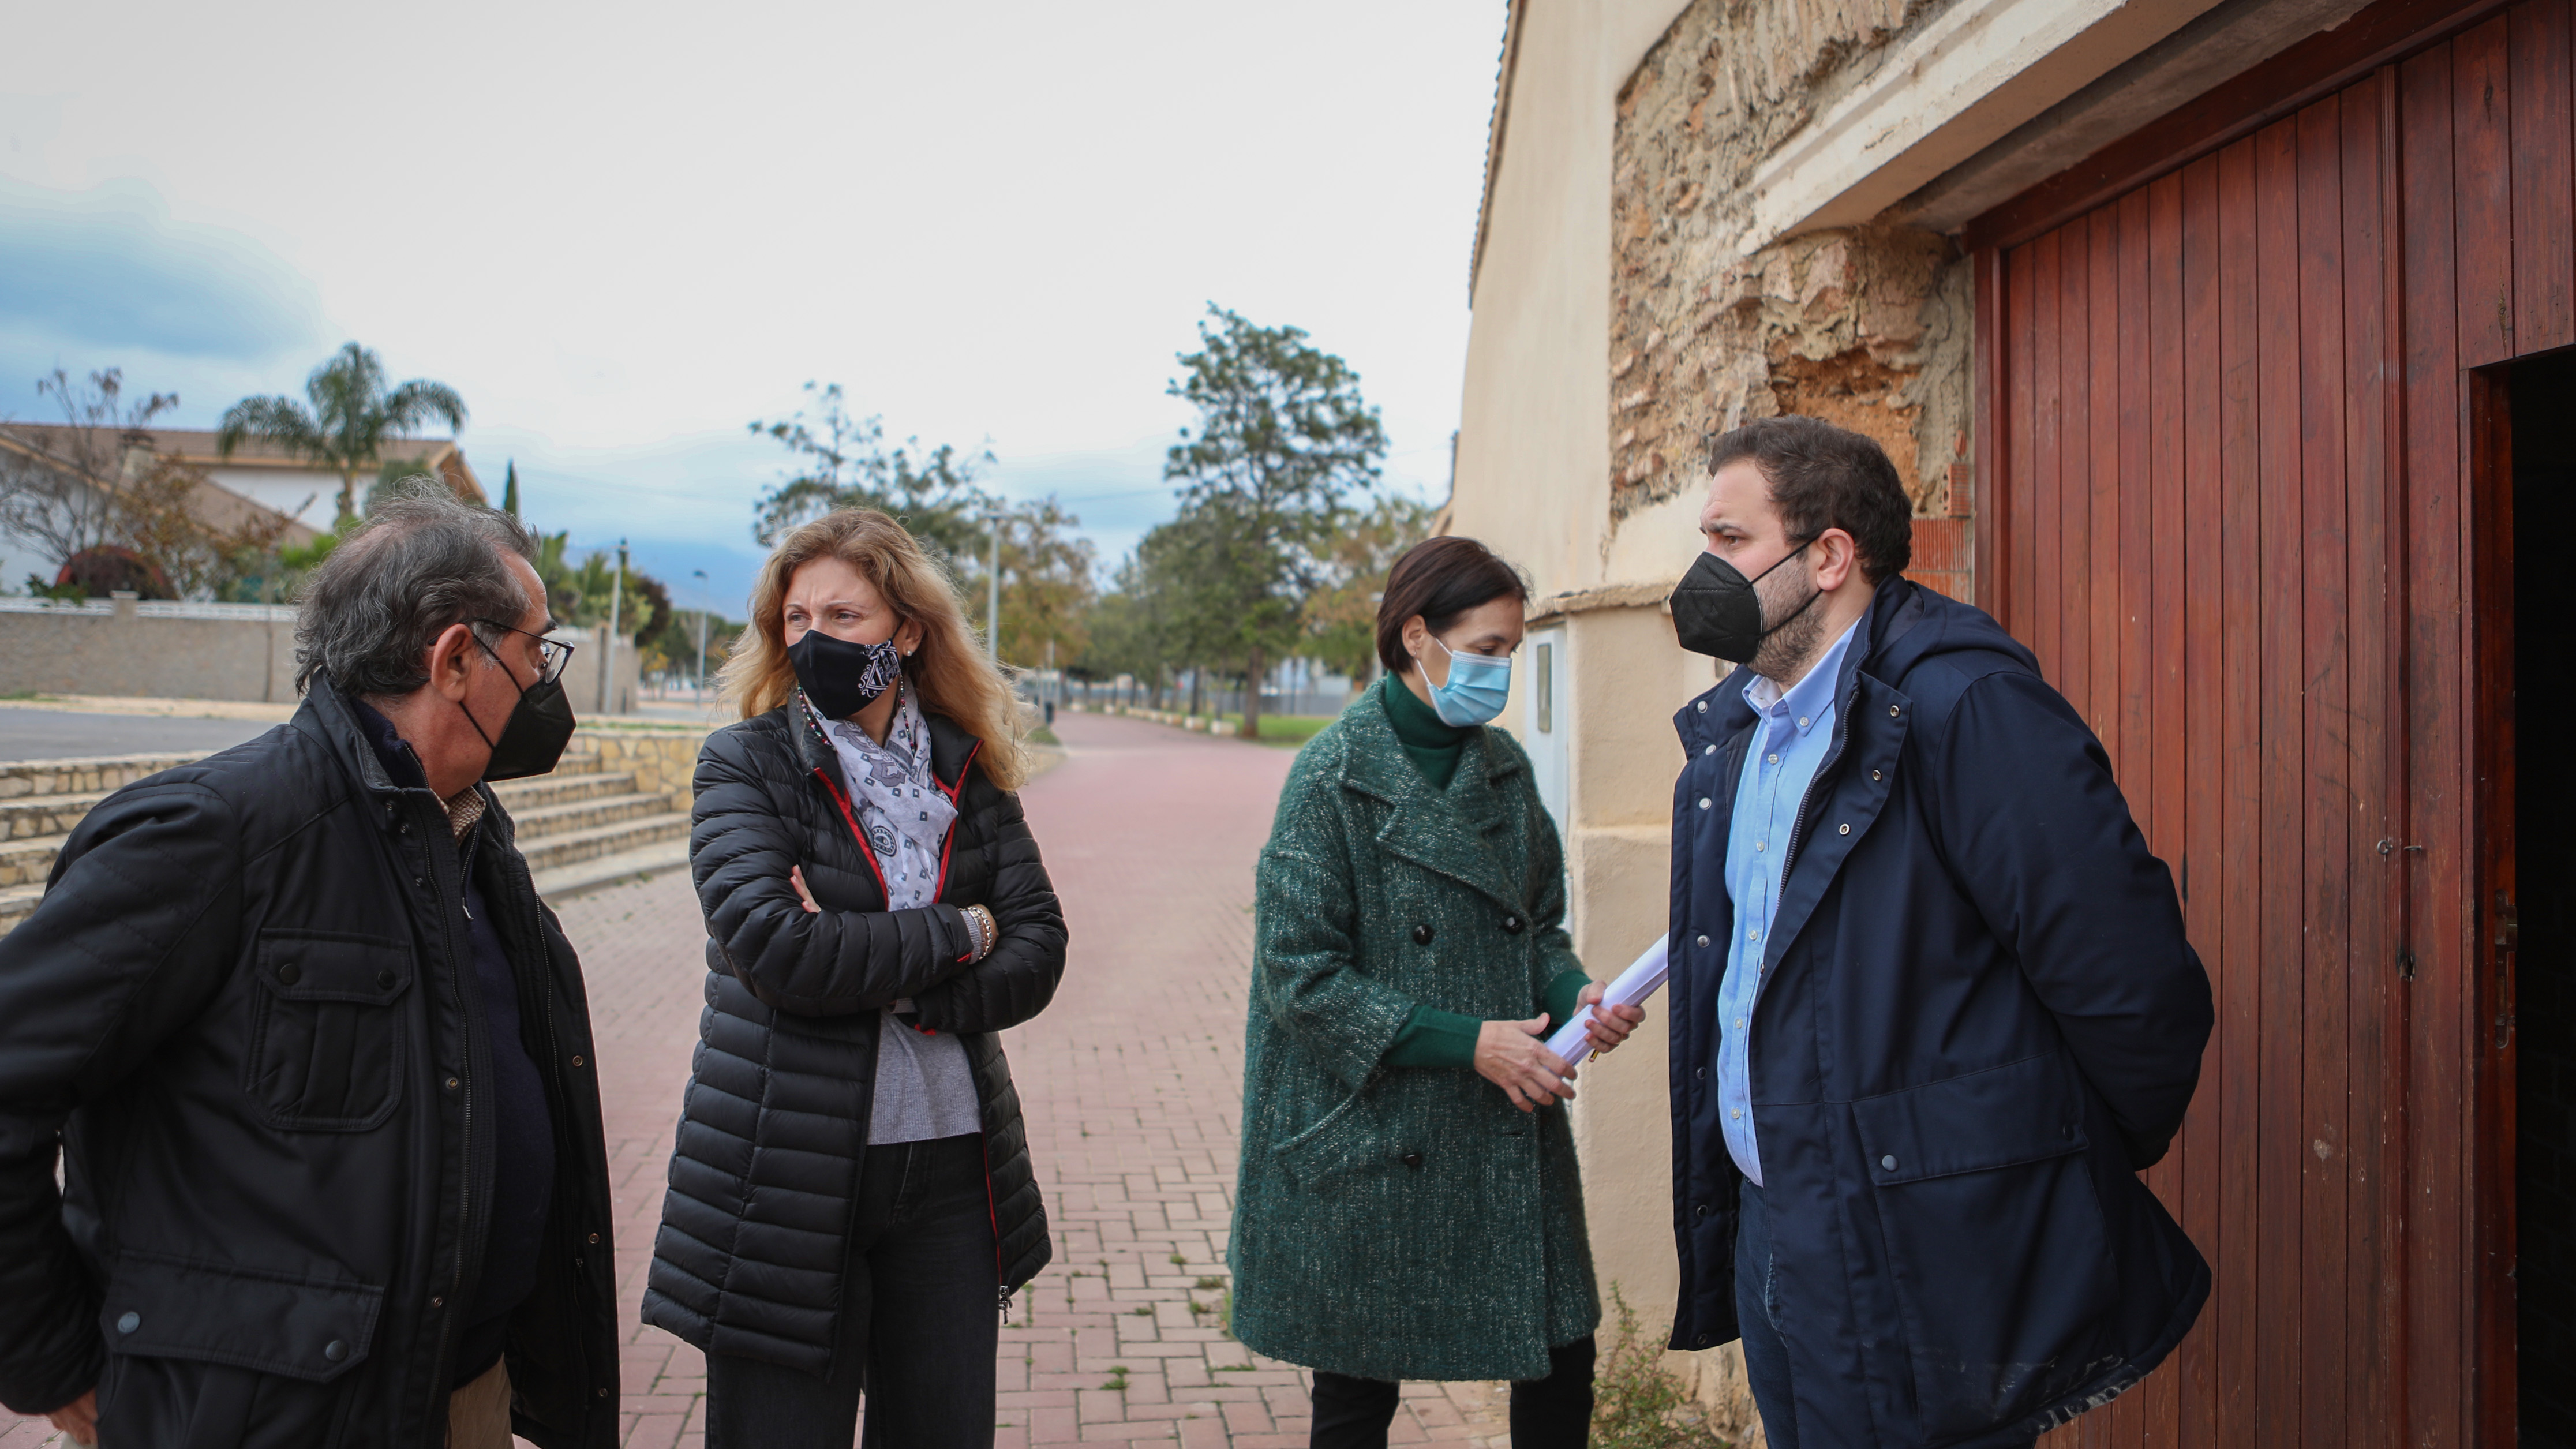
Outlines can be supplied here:
[[260, 931], [247, 1080], [281, 1132], [366, 1132], [402, 1101], [402, 993], [412, 946], [332, 931]]

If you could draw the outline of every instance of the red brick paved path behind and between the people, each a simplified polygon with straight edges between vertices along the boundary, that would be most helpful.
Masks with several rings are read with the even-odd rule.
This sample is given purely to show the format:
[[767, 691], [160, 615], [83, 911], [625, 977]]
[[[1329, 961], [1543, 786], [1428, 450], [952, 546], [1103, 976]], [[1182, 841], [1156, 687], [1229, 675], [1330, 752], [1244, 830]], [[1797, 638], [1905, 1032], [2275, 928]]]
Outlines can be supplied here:
[[[1291, 753], [1059, 714], [1072, 758], [1028, 815], [1064, 897], [1064, 990], [1010, 1034], [1056, 1263], [1002, 1330], [997, 1444], [1306, 1444], [1296, 1369], [1224, 1323], [1252, 861]], [[582, 951], [618, 1191], [626, 1446], [696, 1446], [706, 1366], [636, 1320], [703, 980], [685, 874], [564, 905]], [[1200, 1287], [1206, 1284], [1206, 1287]], [[1399, 1444], [1504, 1444], [1489, 1385], [1409, 1385]], [[0, 1449], [44, 1444], [41, 1423]]]

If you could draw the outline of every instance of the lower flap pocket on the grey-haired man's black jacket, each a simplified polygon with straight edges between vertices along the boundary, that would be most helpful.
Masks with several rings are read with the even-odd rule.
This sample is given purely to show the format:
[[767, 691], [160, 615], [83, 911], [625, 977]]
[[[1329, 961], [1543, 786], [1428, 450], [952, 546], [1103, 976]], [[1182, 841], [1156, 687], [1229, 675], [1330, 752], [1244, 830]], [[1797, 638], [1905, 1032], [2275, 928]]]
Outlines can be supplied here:
[[118, 1253], [98, 1333], [111, 1354], [325, 1385], [366, 1361], [381, 1307], [374, 1284]]

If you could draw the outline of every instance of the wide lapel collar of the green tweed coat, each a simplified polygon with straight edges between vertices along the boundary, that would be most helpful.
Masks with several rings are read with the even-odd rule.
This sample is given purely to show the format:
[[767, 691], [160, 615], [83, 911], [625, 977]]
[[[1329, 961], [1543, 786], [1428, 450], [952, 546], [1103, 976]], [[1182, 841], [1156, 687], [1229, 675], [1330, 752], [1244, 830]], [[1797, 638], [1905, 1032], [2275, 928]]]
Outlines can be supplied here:
[[1528, 892], [1515, 882], [1486, 835], [1507, 828], [1512, 815], [1504, 781], [1522, 771], [1515, 750], [1494, 748], [1492, 727], [1466, 737], [1458, 773], [1448, 792], [1432, 789], [1396, 743], [1386, 722], [1386, 701], [1368, 691], [1342, 712], [1342, 786], [1394, 810], [1378, 828], [1378, 846], [1427, 871], [1466, 882], [1512, 910], [1528, 910]]

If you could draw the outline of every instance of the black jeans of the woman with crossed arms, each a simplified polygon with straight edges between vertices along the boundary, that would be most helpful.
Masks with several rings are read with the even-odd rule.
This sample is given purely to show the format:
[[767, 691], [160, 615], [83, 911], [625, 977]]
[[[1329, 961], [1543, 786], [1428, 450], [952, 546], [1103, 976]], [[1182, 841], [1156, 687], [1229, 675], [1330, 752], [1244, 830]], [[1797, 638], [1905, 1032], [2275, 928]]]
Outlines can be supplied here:
[[832, 1377], [706, 1356], [706, 1449], [989, 1449], [999, 1281], [984, 1137], [868, 1147]]

